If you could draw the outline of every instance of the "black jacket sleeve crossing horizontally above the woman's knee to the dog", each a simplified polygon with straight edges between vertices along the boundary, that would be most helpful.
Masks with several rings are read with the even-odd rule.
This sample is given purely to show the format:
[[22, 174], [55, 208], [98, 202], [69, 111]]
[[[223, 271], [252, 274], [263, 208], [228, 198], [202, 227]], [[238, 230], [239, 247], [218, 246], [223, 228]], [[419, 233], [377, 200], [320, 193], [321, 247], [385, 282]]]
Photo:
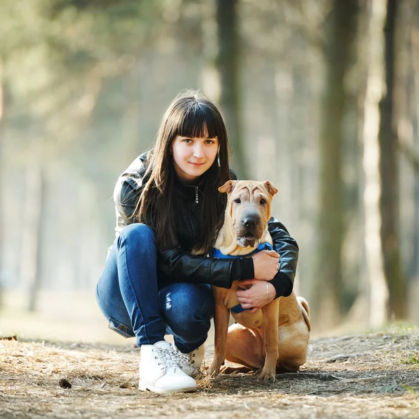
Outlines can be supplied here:
[[177, 247], [159, 251], [161, 271], [174, 281], [210, 284], [230, 288], [233, 279], [254, 277], [251, 258], [219, 259], [196, 256]]

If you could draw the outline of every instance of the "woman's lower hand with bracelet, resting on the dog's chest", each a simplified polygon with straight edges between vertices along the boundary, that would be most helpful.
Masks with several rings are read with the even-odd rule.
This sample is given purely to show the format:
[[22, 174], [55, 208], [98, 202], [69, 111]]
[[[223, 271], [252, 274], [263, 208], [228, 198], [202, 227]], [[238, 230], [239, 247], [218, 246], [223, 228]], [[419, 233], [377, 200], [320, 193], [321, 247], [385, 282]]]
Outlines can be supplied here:
[[237, 299], [242, 304], [244, 309], [247, 309], [249, 313], [255, 313], [258, 309], [261, 309], [268, 302], [274, 300], [277, 296], [275, 287], [267, 281], [258, 281], [258, 279], [244, 279], [239, 281], [238, 284], [250, 285], [248, 290], [241, 290], [240, 288], [236, 291]]

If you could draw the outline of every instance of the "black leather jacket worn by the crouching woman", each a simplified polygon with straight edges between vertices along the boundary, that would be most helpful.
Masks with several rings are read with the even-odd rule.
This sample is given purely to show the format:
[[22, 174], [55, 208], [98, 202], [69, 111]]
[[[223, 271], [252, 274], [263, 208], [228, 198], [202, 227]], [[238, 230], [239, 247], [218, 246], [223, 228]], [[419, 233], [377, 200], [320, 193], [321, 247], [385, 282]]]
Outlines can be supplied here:
[[[146, 167], [147, 153], [144, 153], [138, 156], [119, 176], [114, 191], [117, 236], [125, 226], [138, 222], [133, 217], [133, 213], [142, 185], [147, 182]], [[230, 288], [234, 280], [252, 279], [254, 271], [251, 258], [219, 259], [194, 256], [190, 253], [199, 235], [200, 205], [202, 205], [202, 199], [199, 199], [200, 185], [205, 182], [205, 179], [201, 179], [195, 185], [185, 184], [177, 176], [175, 179], [177, 193], [173, 194], [173, 199], [175, 200], [176, 235], [179, 246], [175, 249], [158, 249], [157, 265], [161, 286], [168, 281], [182, 281]], [[197, 200], [198, 203], [196, 203]], [[272, 236], [274, 249], [280, 255], [281, 263], [281, 269], [271, 282], [277, 291], [277, 297], [287, 296], [293, 291], [298, 246], [288, 230], [273, 217], [268, 222], [268, 230]]]

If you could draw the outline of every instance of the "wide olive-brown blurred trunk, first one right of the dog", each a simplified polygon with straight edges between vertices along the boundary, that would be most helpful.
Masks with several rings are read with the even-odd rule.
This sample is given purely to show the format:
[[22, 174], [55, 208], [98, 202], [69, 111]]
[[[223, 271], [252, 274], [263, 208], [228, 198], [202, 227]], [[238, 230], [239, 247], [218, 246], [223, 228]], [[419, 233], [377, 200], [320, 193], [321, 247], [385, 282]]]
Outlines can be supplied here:
[[324, 328], [341, 316], [341, 247], [344, 235], [341, 146], [346, 93], [344, 76], [351, 61], [358, 3], [335, 0], [325, 24], [325, 80], [319, 138], [320, 182], [318, 205], [318, 270], [311, 305]]

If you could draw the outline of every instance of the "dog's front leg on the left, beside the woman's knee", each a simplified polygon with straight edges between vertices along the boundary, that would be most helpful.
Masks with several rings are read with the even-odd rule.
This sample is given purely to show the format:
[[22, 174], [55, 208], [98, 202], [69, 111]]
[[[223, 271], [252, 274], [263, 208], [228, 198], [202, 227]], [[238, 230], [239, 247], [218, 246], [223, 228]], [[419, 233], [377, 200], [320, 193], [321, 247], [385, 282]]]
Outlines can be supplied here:
[[208, 374], [210, 376], [217, 376], [220, 372], [220, 367], [226, 359], [226, 342], [228, 332], [228, 321], [230, 320], [230, 310], [216, 301], [214, 313], [215, 326], [215, 341], [214, 341], [214, 360]]

